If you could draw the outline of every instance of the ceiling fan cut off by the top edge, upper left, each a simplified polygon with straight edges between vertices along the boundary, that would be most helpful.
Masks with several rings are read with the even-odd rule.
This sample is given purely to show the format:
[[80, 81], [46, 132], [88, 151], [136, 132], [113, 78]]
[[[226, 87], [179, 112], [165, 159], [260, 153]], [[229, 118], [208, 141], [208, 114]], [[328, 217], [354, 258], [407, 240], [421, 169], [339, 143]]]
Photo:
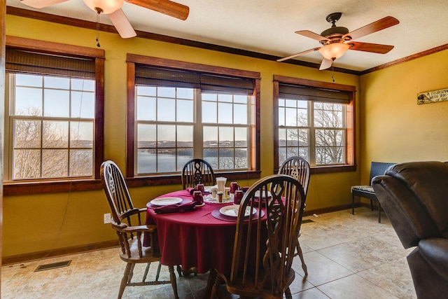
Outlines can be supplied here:
[[[22, 4], [31, 6], [34, 8], [44, 8], [53, 4], [59, 4], [67, 0], [20, 0]], [[137, 36], [129, 20], [127, 20], [125, 13], [121, 7], [124, 0], [83, 0], [85, 5], [90, 9], [100, 13], [104, 13], [109, 16], [113, 26], [116, 27], [118, 34], [123, 39]], [[165, 15], [178, 18], [180, 20], [186, 20], [190, 8], [183, 4], [178, 4], [169, 0], [125, 0], [130, 4], [135, 4], [144, 8], [151, 9], [151, 11], [157, 11]]]

